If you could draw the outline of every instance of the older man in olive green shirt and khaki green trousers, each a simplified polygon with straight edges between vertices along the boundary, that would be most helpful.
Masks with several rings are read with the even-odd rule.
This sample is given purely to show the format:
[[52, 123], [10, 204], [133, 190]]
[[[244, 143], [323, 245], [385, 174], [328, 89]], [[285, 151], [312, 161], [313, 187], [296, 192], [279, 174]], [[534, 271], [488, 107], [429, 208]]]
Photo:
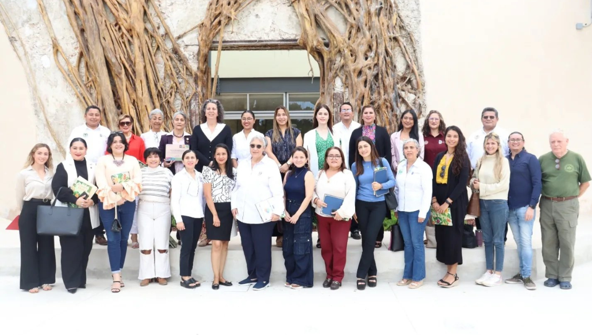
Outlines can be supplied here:
[[[574, 269], [575, 227], [581, 197], [590, 185], [590, 173], [581, 155], [568, 151], [570, 140], [562, 131], [549, 135], [551, 152], [539, 157], [543, 190], [540, 230], [543, 240], [546, 287], [571, 288]], [[561, 249], [561, 258], [559, 258]]]

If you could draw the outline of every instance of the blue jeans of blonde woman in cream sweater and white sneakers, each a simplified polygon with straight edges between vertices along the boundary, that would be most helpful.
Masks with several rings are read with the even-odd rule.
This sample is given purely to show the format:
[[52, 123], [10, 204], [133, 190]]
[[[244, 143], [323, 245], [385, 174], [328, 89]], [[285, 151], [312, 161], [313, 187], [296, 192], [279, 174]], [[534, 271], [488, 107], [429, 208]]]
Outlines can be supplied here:
[[488, 270], [493, 270], [494, 248], [496, 255], [495, 271], [504, 269], [504, 233], [508, 220], [507, 200], [480, 200], [481, 230], [485, 244], [485, 264]]

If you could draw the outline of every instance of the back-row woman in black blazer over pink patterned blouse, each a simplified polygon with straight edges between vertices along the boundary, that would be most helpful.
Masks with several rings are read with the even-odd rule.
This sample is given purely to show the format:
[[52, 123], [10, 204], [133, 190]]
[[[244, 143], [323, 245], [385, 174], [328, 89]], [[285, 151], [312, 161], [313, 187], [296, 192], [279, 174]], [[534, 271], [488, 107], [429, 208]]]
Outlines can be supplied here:
[[[361, 138], [362, 136], [368, 136], [372, 139], [379, 157], [385, 158], [387, 162], [391, 161], [391, 136], [388, 135], [387, 128], [381, 127], [375, 122], [376, 112], [374, 111], [374, 107], [370, 105], [363, 106], [362, 122], [360, 122], [362, 123], [362, 126], [355, 129], [352, 132], [352, 137], [349, 138], [349, 166], [352, 166], [355, 161], [356, 155], [358, 154], [356, 142], [358, 141], [358, 138]], [[387, 211], [387, 217], [391, 217], [391, 211]], [[358, 222], [356, 220], [352, 220], [350, 232], [352, 233], [352, 236], [358, 232], [359, 236]], [[382, 246], [383, 238], [384, 230], [381, 229], [378, 232], [375, 248], [380, 248]]]

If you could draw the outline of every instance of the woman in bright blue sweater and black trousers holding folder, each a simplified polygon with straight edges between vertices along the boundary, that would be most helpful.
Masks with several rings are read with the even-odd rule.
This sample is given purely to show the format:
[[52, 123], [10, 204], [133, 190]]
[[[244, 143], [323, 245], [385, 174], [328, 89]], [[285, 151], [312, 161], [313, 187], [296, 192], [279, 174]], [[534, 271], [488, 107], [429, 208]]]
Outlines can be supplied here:
[[[382, 222], [387, 214], [387, 203], [384, 194], [395, 186], [395, 177], [392, 175], [390, 162], [378, 157], [374, 142], [368, 136], [362, 136], [356, 141], [355, 162], [352, 164], [352, 173], [356, 180], [356, 217], [362, 233], [362, 257], [358, 264], [357, 287], [358, 290], [366, 288], [366, 276], [368, 286], [377, 285], [377, 268], [374, 261], [375, 240], [378, 232], [383, 229]], [[387, 182], [374, 181], [376, 170], [387, 171]]]

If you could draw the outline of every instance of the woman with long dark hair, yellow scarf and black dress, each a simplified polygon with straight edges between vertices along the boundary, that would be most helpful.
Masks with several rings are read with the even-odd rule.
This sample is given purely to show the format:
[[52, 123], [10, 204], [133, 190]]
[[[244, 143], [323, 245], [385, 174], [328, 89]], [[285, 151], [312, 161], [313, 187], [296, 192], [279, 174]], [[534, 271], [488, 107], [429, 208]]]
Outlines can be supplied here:
[[449, 126], [444, 138], [446, 151], [436, 155], [433, 167], [432, 209], [440, 214], [450, 210], [452, 226], [436, 225], [436, 259], [446, 264], [446, 275], [438, 285], [450, 288], [458, 285], [456, 267], [462, 264], [462, 231], [469, 203], [466, 182], [471, 162], [461, 129]]

